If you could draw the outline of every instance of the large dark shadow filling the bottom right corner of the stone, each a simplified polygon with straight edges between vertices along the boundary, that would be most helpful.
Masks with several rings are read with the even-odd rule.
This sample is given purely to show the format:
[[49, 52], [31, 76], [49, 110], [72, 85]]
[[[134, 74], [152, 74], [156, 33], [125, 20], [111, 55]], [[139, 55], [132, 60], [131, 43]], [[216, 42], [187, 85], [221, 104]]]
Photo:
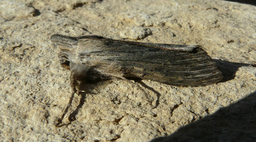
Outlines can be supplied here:
[[167, 137], [150, 142], [224, 142], [256, 141], [256, 91], [247, 97], [222, 107], [215, 113], [182, 126]]

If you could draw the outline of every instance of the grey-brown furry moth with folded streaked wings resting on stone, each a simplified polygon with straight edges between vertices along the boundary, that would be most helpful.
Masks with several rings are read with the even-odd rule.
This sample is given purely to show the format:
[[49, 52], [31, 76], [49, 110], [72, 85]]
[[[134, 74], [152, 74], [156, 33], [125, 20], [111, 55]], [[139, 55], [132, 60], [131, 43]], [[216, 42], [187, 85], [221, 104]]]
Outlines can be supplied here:
[[79, 82], [140, 78], [174, 86], [205, 86], [222, 79], [216, 63], [201, 46], [142, 43], [97, 35], [54, 34], [58, 57], [70, 71], [73, 93], [58, 126], [77, 93]]

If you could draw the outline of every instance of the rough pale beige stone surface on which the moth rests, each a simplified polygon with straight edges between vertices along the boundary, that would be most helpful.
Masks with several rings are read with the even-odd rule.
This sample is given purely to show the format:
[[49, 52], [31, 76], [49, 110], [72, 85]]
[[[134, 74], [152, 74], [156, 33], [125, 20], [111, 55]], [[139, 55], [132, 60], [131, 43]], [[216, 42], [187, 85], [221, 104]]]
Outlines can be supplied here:
[[[220, 0], [1, 1], [1, 141], [256, 141], [255, 11]], [[85, 85], [63, 122], [76, 120], [57, 128], [72, 90], [52, 34], [202, 45], [224, 78], [193, 88], [135, 82], [155, 109], [133, 83]]]

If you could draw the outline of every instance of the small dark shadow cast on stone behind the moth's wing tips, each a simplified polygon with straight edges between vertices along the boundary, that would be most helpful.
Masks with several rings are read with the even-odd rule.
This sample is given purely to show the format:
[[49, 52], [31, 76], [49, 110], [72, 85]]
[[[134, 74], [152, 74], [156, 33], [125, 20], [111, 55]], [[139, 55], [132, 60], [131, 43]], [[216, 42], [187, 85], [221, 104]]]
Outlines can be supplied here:
[[238, 62], [229, 62], [229, 61], [224, 61], [224, 60], [217, 60], [213, 59], [216, 64], [218, 70], [222, 72], [223, 78], [219, 82], [227, 82], [229, 80], [233, 80], [236, 77], [236, 72], [240, 67], [256, 67], [255, 64], [246, 64], [246, 63], [238, 63]]

